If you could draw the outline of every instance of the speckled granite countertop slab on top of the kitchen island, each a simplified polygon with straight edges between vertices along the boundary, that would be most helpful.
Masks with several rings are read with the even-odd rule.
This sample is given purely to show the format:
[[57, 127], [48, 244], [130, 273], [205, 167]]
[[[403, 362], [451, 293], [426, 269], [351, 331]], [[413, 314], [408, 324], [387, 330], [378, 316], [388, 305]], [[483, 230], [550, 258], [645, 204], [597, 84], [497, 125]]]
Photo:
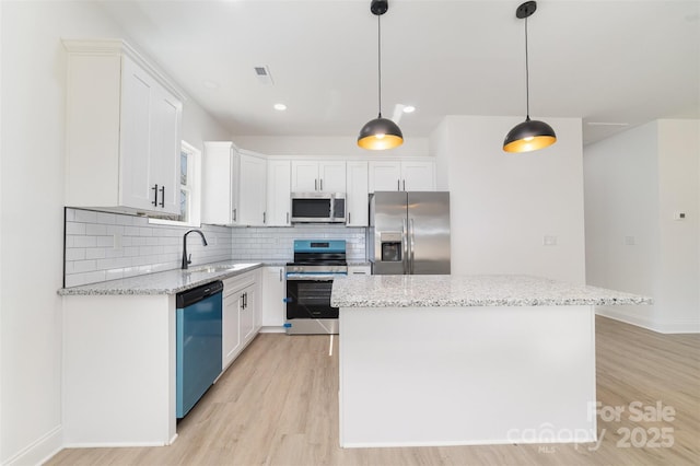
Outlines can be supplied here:
[[652, 299], [522, 275], [351, 276], [334, 280], [337, 307], [651, 304]]

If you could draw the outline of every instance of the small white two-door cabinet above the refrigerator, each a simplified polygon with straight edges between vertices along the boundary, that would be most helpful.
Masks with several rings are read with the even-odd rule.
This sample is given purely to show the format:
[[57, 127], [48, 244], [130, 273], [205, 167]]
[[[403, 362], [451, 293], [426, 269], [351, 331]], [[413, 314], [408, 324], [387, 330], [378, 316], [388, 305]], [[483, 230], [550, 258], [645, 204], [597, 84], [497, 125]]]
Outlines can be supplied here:
[[431, 191], [435, 163], [423, 160], [370, 161], [369, 191]]

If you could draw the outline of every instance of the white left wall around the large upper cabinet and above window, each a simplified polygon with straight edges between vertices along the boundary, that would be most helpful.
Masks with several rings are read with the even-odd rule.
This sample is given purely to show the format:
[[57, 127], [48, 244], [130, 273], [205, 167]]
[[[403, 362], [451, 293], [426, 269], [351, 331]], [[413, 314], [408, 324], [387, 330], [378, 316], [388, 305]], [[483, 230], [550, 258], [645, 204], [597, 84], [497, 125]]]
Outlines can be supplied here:
[[[60, 38], [124, 36], [93, 2], [2, 1], [1, 21], [0, 463], [36, 464], [62, 443]], [[228, 131], [196, 107], [185, 105], [190, 142], [225, 139]]]

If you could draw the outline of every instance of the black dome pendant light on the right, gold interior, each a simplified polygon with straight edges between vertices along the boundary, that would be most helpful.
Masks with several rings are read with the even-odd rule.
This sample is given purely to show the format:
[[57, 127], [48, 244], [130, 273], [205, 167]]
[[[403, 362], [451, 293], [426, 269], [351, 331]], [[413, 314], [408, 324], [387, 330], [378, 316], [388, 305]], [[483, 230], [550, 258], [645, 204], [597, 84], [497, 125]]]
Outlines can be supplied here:
[[544, 149], [557, 142], [557, 135], [551, 126], [545, 121], [529, 119], [529, 63], [527, 54], [527, 18], [537, 10], [537, 2], [527, 1], [515, 10], [515, 16], [525, 19], [525, 92], [527, 102], [527, 117], [525, 121], [515, 125], [505, 135], [503, 150], [505, 152], [530, 152]]

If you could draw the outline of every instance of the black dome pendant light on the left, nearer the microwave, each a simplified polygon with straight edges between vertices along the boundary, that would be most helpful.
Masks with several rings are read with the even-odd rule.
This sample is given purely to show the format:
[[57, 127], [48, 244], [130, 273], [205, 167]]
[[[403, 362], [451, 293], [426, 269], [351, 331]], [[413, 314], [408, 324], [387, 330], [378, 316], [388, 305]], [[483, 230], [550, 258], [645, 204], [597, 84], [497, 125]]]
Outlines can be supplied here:
[[378, 101], [380, 115], [368, 121], [360, 130], [358, 145], [362, 149], [394, 149], [404, 143], [404, 135], [398, 125], [388, 118], [382, 118], [382, 22], [381, 18], [389, 9], [388, 0], [372, 0], [370, 11], [376, 15], [377, 24], [377, 62], [378, 62]]

